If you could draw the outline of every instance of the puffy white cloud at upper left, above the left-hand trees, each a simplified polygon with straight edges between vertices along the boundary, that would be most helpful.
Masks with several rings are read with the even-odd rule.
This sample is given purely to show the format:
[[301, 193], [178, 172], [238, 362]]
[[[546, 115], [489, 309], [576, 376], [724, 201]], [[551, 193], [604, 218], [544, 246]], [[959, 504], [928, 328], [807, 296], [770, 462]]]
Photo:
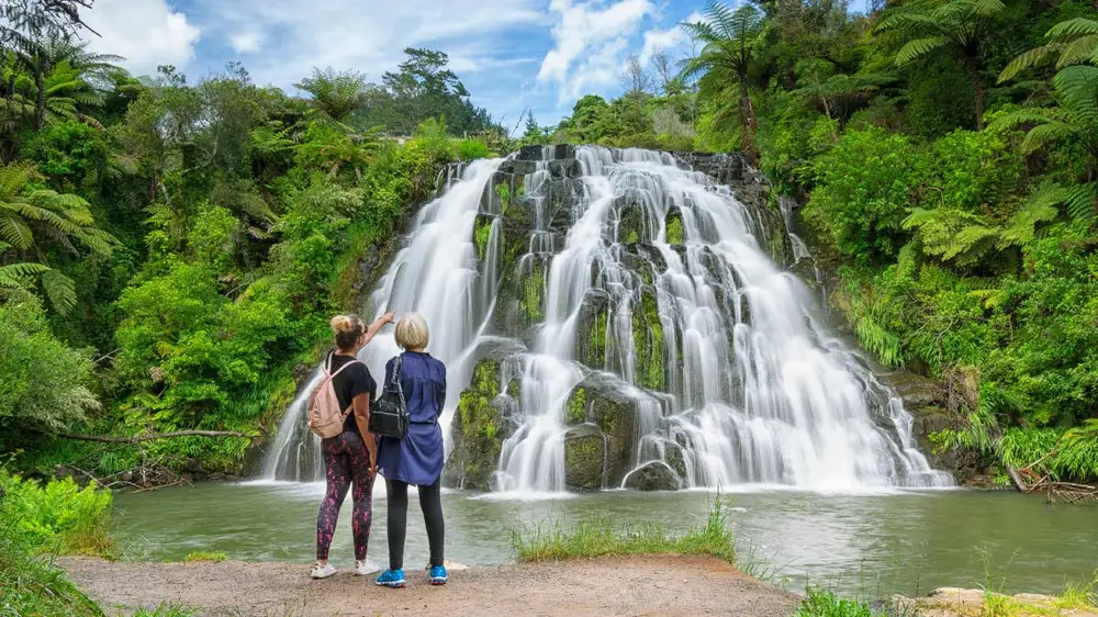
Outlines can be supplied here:
[[125, 57], [122, 64], [137, 75], [164, 64], [186, 66], [201, 36], [187, 15], [165, 0], [98, 0], [83, 18], [100, 34], [87, 36], [89, 47]]

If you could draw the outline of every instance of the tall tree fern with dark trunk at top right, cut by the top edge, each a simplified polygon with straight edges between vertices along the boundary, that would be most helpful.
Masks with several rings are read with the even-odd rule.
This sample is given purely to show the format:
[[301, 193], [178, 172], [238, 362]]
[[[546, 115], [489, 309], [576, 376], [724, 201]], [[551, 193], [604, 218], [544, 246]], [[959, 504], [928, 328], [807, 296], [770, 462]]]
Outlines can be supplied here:
[[904, 66], [934, 52], [955, 54], [968, 71], [976, 94], [976, 128], [984, 127], [983, 71], [995, 20], [1006, 9], [1001, 0], [949, 0], [933, 8], [904, 5], [877, 24], [877, 32], [897, 32], [907, 43], [896, 54]]

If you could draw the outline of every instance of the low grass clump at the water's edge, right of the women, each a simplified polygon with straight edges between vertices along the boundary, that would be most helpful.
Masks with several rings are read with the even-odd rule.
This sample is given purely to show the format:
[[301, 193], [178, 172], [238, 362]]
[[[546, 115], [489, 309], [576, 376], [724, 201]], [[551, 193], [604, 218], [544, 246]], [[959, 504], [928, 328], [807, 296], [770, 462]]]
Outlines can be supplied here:
[[736, 562], [727, 507], [718, 501], [705, 525], [682, 536], [669, 534], [662, 525], [621, 525], [609, 518], [581, 520], [573, 527], [559, 521], [551, 528], [512, 530], [512, 547], [518, 561], [557, 561], [617, 554], [708, 554]]

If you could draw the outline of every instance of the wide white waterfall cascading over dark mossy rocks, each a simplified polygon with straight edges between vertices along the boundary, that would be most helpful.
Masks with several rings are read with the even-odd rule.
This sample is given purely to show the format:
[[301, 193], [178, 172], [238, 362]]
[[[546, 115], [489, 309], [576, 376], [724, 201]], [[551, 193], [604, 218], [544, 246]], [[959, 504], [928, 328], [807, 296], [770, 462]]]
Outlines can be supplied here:
[[[473, 164], [421, 211], [371, 306], [427, 318], [449, 370], [444, 426], [478, 361], [502, 360], [485, 393], [498, 422], [473, 436], [495, 440], [492, 487], [952, 483], [919, 453], [899, 399], [775, 265], [789, 246], [744, 197], [758, 176], [721, 160], [739, 165], [715, 173], [735, 188], [665, 153], [524, 148]], [[362, 359], [378, 373], [395, 352], [383, 334]], [[300, 407], [270, 476], [315, 476]], [[578, 480], [587, 455], [597, 467]]]

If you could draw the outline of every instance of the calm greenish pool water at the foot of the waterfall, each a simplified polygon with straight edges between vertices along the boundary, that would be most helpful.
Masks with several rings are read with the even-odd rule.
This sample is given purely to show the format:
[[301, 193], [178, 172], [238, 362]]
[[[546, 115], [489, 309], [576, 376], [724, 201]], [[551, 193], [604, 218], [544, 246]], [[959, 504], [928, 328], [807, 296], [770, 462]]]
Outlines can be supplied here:
[[[116, 525], [134, 558], [181, 560], [195, 550], [243, 561], [311, 563], [322, 484], [199, 484], [119, 495]], [[1057, 593], [1098, 569], [1098, 508], [1046, 505], [1009, 492], [938, 491], [825, 495], [788, 491], [725, 494], [741, 563], [791, 590], [819, 584], [862, 597], [991, 585]], [[660, 521], [681, 530], [704, 521], [714, 495], [604, 492], [560, 500], [501, 501], [444, 494], [447, 559], [514, 559], [509, 530], [589, 516]], [[333, 546], [348, 565], [349, 500]], [[370, 557], [385, 562], [385, 500], [373, 506]], [[412, 498], [406, 562], [426, 562], [426, 535]], [[752, 570], [754, 570], [752, 569]], [[303, 575], [305, 569], [302, 569]]]

